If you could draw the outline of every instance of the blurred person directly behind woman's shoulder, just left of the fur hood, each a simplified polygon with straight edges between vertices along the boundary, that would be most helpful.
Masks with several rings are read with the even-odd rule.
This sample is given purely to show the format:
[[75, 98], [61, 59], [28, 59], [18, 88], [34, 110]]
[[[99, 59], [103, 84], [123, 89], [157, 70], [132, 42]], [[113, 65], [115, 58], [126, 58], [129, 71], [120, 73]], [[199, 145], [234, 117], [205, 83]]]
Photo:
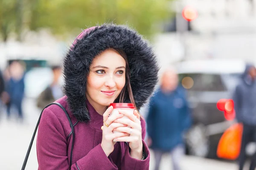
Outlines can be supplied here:
[[43, 109], [48, 104], [61, 98], [63, 95], [60, 85], [61, 67], [58, 65], [52, 66], [53, 81], [38, 97], [37, 106]]

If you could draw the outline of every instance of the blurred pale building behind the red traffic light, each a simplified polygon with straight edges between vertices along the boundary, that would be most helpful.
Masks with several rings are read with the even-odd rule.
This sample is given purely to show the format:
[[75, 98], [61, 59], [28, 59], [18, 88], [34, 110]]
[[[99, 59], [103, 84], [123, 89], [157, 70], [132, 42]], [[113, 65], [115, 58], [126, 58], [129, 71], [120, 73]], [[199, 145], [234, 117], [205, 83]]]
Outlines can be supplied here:
[[[177, 0], [171, 6], [176, 17], [155, 41], [163, 65], [202, 58], [256, 61], [256, 0]], [[198, 12], [189, 26], [181, 15], [186, 6]]]

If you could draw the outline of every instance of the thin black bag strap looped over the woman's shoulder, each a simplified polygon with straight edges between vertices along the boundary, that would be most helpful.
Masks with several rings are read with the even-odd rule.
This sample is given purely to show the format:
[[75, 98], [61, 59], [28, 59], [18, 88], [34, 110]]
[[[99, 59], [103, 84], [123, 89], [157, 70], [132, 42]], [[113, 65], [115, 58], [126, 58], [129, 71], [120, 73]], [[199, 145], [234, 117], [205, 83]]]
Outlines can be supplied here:
[[[50, 105], [58, 105], [58, 106], [66, 113], [67, 119], [68, 119], [69, 122], [70, 122], [70, 127], [71, 127], [71, 131], [72, 131], [72, 147], [71, 147], [70, 164], [69, 164], [69, 170], [70, 170], [70, 169], [71, 169], [71, 164], [72, 164], [73, 146], [74, 146], [74, 139], [75, 139], [74, 126], [73, 126], [73, 124], [72, 124], [72, 122], [71, 122], [70, 116], [68, 115], [66, 109], [65, 109], [60, 103], [54, 102], [54, 103], [51, 103], [51, 104], [47, 105], [45, 108], [47, 108], [47, 107], [50, 106]], [[44, 108], [44, 109], [45, 109], [45, 108]], [[35, 139], [35, 133], [36, 133], [36, 131], [37, 131], [37, 129], [38, 129], [38, 125], [39, 125], [39, 122], [40, 122], [40, 119], [41, 119], [41, 116], [42, 116], [42, 113], [43, 113], [44, 109], [42, 110], [42, 112], [41, 112], [41, 114], [40, 114], [40, 116], [39, 116], [37, 125], [36, 125], [36, 127], [35, 127], [35, 131], [34, 131], [34, 134], [33, 134], [33, 136], [32, 136], [31, 142], [30, 142], [30, 144], [29, 144], [29, 149], [28, 149], [28, 151], [27, 151], [27, 153], [26, 153], [26, 157], [25, 157], [25, 160], [24, 160], [24, 162], [23, 162], [23, 166], [22, 166], [21, 170], [25, 170], [26, 163], [27, 163], [28, 158], [29, 158], [29, 153], [30, 153], [30, 150], [31, 150], [31, 148], [32, 148], [33, 141], [34, 141], [34, 139]]]

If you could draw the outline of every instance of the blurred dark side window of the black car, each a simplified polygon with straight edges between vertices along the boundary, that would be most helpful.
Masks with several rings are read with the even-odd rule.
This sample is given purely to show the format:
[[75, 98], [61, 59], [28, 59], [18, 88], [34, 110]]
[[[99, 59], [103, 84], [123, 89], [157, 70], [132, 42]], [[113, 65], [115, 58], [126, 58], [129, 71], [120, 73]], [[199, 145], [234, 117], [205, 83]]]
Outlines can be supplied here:
[[193, 81], [191, 91], [227, 91], [226, 85], [219, 74], [179, 74], [179, 80], [191, 77]]

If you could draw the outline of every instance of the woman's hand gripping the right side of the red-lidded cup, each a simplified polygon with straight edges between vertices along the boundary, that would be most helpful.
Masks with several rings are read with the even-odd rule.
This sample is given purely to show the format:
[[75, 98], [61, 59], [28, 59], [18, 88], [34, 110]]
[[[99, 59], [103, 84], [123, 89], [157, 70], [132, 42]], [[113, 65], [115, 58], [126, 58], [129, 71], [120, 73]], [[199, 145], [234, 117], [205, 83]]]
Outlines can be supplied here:
[[117, 137], [114, 139], [116, 142], [129, 142], [129, 147], [131, 148], [131, 157], [136, 159], [141, 159], [143, 154], [143, 143], [142, 143], [142, 128], [140, 124], [140, 114], [137, 110], [134, 113], [129, 113], [128, 111], [119, 110], [119, 113], [127, 116], [129, 119], [116, 119], [115, 123], [121, 123], [128, 125], [130, 127], [116, 127], [117, 130], [122, 133], [128, 133], [128, 136]]

